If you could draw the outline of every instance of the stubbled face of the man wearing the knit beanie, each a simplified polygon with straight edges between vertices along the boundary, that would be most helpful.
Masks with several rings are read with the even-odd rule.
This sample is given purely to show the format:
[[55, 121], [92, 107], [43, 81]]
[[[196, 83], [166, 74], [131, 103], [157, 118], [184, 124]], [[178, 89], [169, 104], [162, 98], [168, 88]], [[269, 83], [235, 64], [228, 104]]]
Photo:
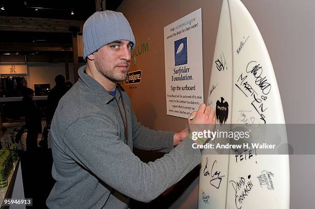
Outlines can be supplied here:
[[113, 82], [124, 81], [130, 67], [132, 42], [116, 41], [94, 52], [97, 71]]

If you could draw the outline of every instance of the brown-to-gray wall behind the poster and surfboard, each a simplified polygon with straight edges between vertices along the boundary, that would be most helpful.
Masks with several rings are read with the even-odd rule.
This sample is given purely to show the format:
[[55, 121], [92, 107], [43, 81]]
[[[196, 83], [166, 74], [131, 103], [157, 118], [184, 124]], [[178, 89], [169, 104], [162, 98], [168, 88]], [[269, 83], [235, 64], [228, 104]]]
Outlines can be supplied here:
[[[287, 123], [315, 123], [312, 97], [315, 71], [315, 2], [304, 0], [242, 0], [264, 38], [275, 70]], [[222, 1], [215, 0], [125, 0], [119, 11], [130, 22], [137, 44], [148, 42], [149, 50], [135, 56], [131, 71], [142, 70], [141, 84], [126, 85], [137, 118], [144, 125], [162, 130], [180, 130], [185, 119], [166, 115], [164, 37], [166, 25], [202, 8], [204, 96], [207, 98], [214, 46]], [[302, 106], [303, 108], [302, 108]], [[315, 205], [315, 157], [290, 156], [291, 208]], [[198, 178], [191, 180], [171, 208], [197, 208]]]

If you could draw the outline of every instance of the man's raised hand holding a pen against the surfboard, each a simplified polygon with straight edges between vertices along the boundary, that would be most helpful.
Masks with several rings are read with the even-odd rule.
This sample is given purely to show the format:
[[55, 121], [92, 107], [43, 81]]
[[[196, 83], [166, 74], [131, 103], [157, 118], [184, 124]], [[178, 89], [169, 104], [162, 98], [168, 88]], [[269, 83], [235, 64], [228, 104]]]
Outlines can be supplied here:
[[[212, 109], [210, 106], [201, 104], [198, 111], [192, 112], [188, 117], [189, 134], [193, 132], [203, 132], [206, 129], [213, 131], [216, 127], [216, 121], [216, 110]], [[206, 141], [207, 139], [202, 140]], [[199, 143], [200, 141], [197, 140], [196, 142]]]

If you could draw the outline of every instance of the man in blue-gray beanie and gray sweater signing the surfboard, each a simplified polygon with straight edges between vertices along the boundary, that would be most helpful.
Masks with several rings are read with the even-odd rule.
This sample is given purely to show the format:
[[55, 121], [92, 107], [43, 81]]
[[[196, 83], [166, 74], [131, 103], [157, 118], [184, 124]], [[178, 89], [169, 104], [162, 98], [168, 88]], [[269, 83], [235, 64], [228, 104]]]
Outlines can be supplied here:
[[[56, 184], [47, 206], [116, 209], [127, 208], [129, 198], [149, 202], [200, 163], [200, 150], [191, 147], [186, 129], [174, 134], [137, 122], [127, 93], [117, 85], [127, 77], [135, 44], [122, 13], [94, 13], [83, 26], [83, 43], [86, 66], [51, 124]], [[215, 124], [209, 106], [193, 114], [190, 131], [198, 130], [191, 124]], [[170, 153], [146, 164], [133, 147]]]

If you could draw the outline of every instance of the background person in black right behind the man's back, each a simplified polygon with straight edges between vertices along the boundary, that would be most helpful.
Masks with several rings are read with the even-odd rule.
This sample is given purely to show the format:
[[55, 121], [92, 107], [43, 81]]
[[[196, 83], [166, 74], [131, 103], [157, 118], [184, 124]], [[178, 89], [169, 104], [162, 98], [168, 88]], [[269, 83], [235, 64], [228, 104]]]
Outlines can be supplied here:
[[56, 86], [52, 88], [48, 93], [47, 109], [46, 109], [46, 123], [50, 124], [53, 119], [55, 110], [57, 108], [59, 100], [67, 92], [68, 88], [65, 83], [63, 75], [59, 74], [55, 78]]

